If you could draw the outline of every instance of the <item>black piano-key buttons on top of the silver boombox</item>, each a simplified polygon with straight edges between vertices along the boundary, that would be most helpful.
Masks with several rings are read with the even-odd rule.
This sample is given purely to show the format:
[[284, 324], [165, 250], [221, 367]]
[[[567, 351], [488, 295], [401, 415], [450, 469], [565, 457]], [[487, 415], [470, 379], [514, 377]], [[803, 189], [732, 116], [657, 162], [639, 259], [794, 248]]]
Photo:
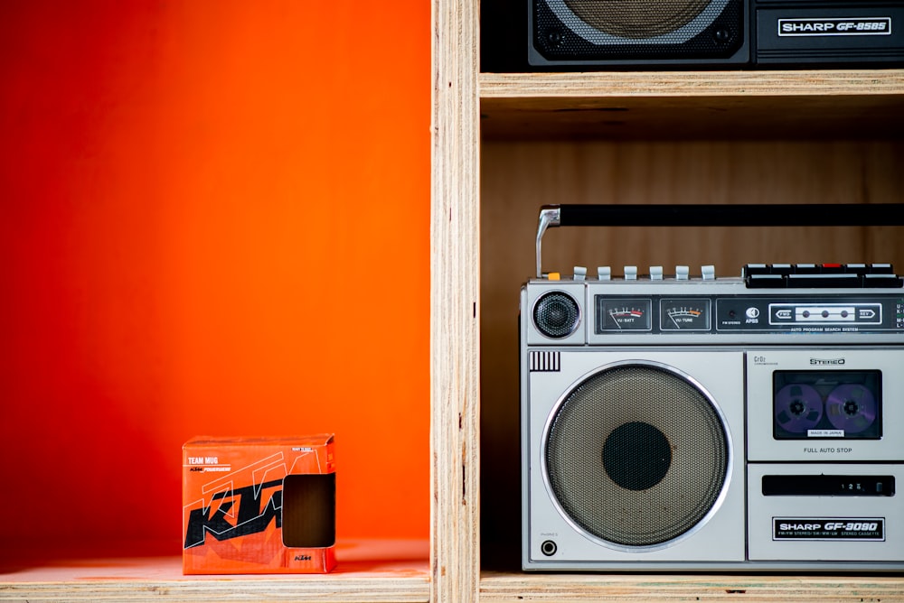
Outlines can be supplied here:
[[891, 264], [747, 264], [741, 276], [751, 289], [904, 286]]

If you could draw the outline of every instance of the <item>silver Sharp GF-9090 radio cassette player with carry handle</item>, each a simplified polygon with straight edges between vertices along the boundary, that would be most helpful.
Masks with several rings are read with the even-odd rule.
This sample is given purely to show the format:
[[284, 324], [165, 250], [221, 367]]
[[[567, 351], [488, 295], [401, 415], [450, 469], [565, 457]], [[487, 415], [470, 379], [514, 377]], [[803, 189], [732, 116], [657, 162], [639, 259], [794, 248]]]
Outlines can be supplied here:
[[904, 570], [902, 278], [890, 264], [543, 274], [547, 227], [654, 213], [737, 225], [764, 210], [541, 210], [521, 292], [523, 569]]

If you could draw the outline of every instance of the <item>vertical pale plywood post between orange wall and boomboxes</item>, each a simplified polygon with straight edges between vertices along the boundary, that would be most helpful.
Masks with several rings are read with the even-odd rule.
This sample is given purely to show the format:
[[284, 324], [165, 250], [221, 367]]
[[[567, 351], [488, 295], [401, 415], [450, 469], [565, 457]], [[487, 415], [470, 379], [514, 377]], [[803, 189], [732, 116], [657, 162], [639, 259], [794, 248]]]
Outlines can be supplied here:
[[479, 587], [477, 0], [433, 2], [430, 250], [432, 601]]

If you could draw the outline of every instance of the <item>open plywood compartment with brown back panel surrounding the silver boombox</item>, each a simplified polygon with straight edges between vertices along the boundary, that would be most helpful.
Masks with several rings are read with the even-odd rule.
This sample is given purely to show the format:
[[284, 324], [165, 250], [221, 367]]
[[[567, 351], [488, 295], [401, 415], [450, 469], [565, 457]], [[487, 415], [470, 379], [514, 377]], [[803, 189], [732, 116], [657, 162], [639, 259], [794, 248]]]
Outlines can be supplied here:
[[[550, 575], [495, 567], [496, 558], [517, 557], [520, 545], [517, 519], [509, 522], [495, 507], [518, 487], [517, 478], [510, 478], [520, 459], [517, 443], [509, 444], [518, 438], [511, 320], [514, 292], [532, 267], [536, 209], [561, 199], [895, 201], [904, 151], [904, 70], [482, 73], [477, 85], [480, 356], [482, 373], [492, 375], [480, 388], [481, 498], [487, 501], [482, 515], [496, 538], [487, 543], [484, 533], [482, 551], [491, 544], [504, 549], [485, 555], [480, 600], [904, 600], [904, 579], [888, 575]], [[547, 254], [557, 266], [600, 256], [616, 258], [613, 265], [631, 259], [648, 265], [677, 252], [698, 264], [715, 258], [738, 270], [743, 262], [734, 266], [736, 255], [749, 261], [764, 252], [881, 255], [896, 265], [904, 257], [899, 230], [884, 228], [869, 236], [831, 237], [817, 230], [680, 237], [641, 230], [604, 236], [581, 231], [570, 233], [567, 242], [551, 237]]]

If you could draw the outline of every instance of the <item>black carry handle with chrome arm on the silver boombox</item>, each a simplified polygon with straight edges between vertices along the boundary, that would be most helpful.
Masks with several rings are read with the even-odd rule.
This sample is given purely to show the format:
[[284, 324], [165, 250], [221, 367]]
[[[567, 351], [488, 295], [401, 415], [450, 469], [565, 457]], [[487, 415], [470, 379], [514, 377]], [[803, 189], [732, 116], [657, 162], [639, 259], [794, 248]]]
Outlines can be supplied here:
[[904, 226], [904, 203], [742, 205], [544, 205], [537, 228], [537, 278], [543, 277], [541, 241], [547, 228], [840, 227]]

